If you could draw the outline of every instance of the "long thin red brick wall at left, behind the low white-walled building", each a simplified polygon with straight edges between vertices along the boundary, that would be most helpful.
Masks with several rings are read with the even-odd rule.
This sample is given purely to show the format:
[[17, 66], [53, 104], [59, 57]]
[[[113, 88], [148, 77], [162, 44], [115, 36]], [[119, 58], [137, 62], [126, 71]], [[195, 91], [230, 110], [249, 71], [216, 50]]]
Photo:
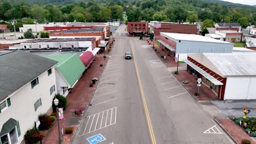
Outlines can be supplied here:
[[79, 36], [101, 36], [104, 39], [104, 32], [102, 33], [50, 33], [50, 37], [79, 37]]

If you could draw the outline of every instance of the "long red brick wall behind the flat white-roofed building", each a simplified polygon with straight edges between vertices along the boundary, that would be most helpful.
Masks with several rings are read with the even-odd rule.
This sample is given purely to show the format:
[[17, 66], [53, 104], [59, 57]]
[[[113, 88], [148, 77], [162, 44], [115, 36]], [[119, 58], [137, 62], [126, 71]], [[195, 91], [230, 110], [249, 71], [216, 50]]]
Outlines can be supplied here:
[[196, 34], [197, 25], [185, 25], [180, 23], [161, 23], [161, 28], [154, 28], [154, 37], [160, 39], [160, 32]]

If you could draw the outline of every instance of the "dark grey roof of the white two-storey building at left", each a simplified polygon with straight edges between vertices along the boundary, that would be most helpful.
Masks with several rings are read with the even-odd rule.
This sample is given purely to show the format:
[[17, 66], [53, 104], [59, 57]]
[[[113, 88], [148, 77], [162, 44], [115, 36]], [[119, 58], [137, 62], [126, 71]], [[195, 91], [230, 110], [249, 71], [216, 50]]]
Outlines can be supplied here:
[[51, 59], [20, 50], [0, 52], [0, 101], [56, 63]]

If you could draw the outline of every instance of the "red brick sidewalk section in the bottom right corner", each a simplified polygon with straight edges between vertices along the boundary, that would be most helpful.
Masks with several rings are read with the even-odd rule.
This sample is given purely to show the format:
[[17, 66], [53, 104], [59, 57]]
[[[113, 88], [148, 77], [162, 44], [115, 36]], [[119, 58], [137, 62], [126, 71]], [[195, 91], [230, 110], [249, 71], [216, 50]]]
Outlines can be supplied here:
[[252, 144], [256, 142], [240, 127], [238, 127], [231, 119], [217, 119], [222, 127], [236, 140], [237, 143], [241, 143], [242, 140], [251, 140]]

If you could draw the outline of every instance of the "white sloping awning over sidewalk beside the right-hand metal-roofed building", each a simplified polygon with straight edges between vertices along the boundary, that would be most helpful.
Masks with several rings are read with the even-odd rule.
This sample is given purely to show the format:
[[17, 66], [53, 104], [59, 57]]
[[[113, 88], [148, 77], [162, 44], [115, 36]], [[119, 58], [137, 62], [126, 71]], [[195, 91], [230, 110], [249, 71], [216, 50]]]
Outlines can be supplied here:
[[201, 68], [197, 67], [194, 63], [190, 62], [188, 59], [184, 60], [185, 63], [187, 63], [190, 67], [192, 67], [193, 69], [195, 69], [198, 73], [200, 73], [201, 75], [203, 75], [204, 77], [206, 77], [206, 79], [208, 79], [209, 81], [211, 81], [214, 85], [218, 86], [218, 85], [223, 85], [222, 82], [218, 81], [217, 79], [215, 79], [213, 76], [211, 76], [210, 74], [206, 73], [204, 70], [202, 70]]

